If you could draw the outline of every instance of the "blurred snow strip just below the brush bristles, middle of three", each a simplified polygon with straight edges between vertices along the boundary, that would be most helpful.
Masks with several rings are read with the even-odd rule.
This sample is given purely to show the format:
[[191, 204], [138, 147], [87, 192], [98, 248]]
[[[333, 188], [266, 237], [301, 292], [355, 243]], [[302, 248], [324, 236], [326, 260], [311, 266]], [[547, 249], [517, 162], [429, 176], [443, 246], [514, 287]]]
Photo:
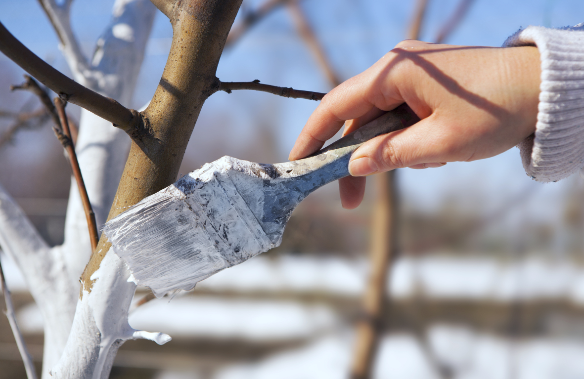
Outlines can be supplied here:
[[304, 339], [336, 324], [336, 315], [324, 305], [209, 297], [152, 300], [130, 315], [133, 328], [156, 329], [177, 338]]

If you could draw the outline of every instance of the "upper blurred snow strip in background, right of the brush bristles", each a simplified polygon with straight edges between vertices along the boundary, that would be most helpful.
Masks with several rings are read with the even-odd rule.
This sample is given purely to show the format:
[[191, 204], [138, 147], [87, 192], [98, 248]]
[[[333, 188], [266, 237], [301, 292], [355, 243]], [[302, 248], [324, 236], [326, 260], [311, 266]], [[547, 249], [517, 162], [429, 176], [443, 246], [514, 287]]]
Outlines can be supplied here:
[[[258, 256], [201, 281], [197, 288], [359, 296], [366, 278], [366, 259]], [[411, 297], [416, 288], [430, 298], [506, 302], [561, 297], [584, 304], [584, 267], [565, 260], [534, 257], [515, 262], [445, 254], [398, 259], [388, 281], [392, 297]]]

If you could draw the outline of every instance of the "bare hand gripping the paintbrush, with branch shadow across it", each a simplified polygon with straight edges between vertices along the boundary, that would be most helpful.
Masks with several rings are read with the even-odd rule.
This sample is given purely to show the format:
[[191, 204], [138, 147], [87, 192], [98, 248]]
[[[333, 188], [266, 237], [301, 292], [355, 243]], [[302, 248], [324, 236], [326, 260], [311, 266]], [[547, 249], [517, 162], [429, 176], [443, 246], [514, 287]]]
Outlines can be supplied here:
[[290, 152], [304, 158], [343, 123], [344, 134], [407, 103], [421, 121], [367, 141], [339, 180], [344, 208], [363, 199], [364, 176], [436, 168], [500, 154], [534, 133], [540, 93], [536, 47], [452, 46], [406, 40], [329, 92]]

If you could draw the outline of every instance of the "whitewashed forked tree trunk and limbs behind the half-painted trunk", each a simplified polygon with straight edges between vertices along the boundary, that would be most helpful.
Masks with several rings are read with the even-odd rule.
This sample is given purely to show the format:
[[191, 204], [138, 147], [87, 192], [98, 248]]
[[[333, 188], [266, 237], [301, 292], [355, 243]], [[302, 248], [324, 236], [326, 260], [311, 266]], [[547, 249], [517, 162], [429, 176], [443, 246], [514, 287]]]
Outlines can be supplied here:
[[[41, 3], [60, 36], [65, 57], [75, 78], [93, 91], [129, 103], [156, 12], [151, 2], [116, 1], [112, 21], [98, 40], [91, 62], [82, 58], [69, 26], [71, 1], [63, 5], [55, 5], [53, 1]], [[110, 122], [85, 110], [82, 111], [79, 128], [76, 146], [79, 165], [99, 225], [105, 222], [113, 202], [130, 138]], [[45, 345], [42, 374], [43, 378], [48, 378], [50, 368], [63, 356], [75, 314], [79, 276], [91, 255], [85, 213], [77, 185], [72, 183], [65, 243], [50, 249], [8, 194], [4, 190], [0, 193], [0, 245], [20, 267], [43, 314]], [[133, 294], [133, 289], [128, 293]], [[81, 314], [84, 312], [88, 315], [88, 310], [82, 310]], [[91, 324], [95, 317], [104, 317], [104, 314], [95, 316], [92, 312], [91, 317], [81, 319], [81, 322]], [[92, 345], [92, 339], [82, 336], [78, 331], [71, 333], [70, 340], [74, 341], [72, 346], [78, 352], [99, 349], [99, 342]], [[113, 345], [116, 346], [115, 343]], [[79, 359], [70, 362], [69, 366], [86, 367], [82, 357]], [[106, 372], [109, 373], [109, 368]]]

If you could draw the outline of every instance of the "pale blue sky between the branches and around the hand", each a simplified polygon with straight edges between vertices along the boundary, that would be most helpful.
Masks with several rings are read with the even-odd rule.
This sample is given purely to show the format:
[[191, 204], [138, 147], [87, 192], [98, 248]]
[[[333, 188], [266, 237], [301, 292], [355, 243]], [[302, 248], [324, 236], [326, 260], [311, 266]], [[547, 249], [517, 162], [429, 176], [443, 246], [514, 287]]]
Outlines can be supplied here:
[[[245, 4], [254, 8], [261, 2], [253, 0]], [[93, 44], [107, 25], [112, 4], [113, 1], [75, 1], [72, 24], [87, 54], [91, 54]], [[404, 39], [413, 4], [414, 1], [305, 0], [303, 8], [333, 67], [346, 79], [369, 67]], [[432, 41], [457, 4], [458, 0], [429, 0], [420, 39]], [[40, 57], [68, 72], [57, 49], [55, 33], [36, 1], [0, 1], [0, 20]], [[582, 21], [582, 0], [475, 0], [464, 22], [447, 42], [500, 46], [522, 26], [557, 27]], [[140, 107], [151, 98], [164, 68], [172, 29], [162, 14], [155, 20], [151, 37], [131, 107]], [[6, 58], [0, 56], [0, 60]], [[218, 77], [223, 81], [260, 79], [267, 84], [321, 92], [331, 89], [310, 51], [298, 38], [285, 9], [274, 12], [236, 46], [225, 51]], [[286, 160], [287, 152], [315, 106], [317, 103], [309, 100], [276, 98], [265, 93], [217, 93], [203, 107], [187, 157], [200, 164], [225, 154], [245, 159], [241, 156], [246, 154], [242, 145], [258, 137], [256, 126], [263, 123], [276, 136], [279, 160]], [[218, 123], [223, 129], [218, 128]], [[215, 140], [221, 138], [225, 143], [205, 155], [201, 151], [209, 136]], [[261, 160], [261, 154], [259, 157]], [[524, 208], [545, 218], [559, 217], [557, 210], [565, 187], [580, 180], [569, 179], [552, 185], [535, 183], [524, 174], [515, 148], [484, 161], [453, 163], [423, 171], [406, 169], [399, 175], [405, 199], [425, 208], [439, 207], [445, 197], [454, 196], [472, 206], [488, 209], [505, 197], [533, 187], [533, 195]]]

